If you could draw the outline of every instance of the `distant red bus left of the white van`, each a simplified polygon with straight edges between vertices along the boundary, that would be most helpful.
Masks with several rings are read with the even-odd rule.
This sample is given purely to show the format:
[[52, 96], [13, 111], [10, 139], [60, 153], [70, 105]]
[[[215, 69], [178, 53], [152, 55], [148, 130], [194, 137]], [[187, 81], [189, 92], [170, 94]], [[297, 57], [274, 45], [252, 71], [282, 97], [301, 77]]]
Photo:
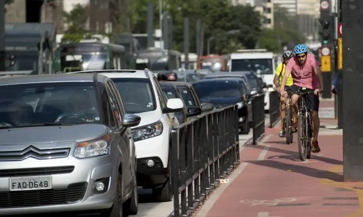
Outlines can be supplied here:
[[211, 71], [227, 71], [225, 57], [219, 55], [199, 57], [197, 67], [198, 69], [207, 69]]

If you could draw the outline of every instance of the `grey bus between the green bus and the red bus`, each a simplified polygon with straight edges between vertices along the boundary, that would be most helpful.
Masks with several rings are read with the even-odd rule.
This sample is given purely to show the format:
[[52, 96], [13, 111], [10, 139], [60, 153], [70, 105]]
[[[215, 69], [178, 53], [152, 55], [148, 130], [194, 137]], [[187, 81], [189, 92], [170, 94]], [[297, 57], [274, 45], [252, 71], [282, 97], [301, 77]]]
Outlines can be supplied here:
[[144, 66], [152, 71], [179, 70], [181, 67], [181, 53], [177, 50], [148, 48], [140, 50], [136, 59], [136, 69]]

